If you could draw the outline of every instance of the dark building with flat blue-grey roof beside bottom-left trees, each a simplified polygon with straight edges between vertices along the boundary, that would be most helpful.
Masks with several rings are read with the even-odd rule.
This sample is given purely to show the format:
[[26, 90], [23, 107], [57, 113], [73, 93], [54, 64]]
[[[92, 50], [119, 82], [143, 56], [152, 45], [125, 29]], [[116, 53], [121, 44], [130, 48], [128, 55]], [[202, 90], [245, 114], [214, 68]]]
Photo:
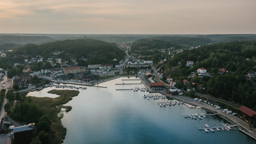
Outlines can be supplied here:
[[13, 133], [15, 144], [23, 144], [26, 140], [29, 140], [30, 143], [32, 140], [35, 139], [35, 123], [14, 127]]

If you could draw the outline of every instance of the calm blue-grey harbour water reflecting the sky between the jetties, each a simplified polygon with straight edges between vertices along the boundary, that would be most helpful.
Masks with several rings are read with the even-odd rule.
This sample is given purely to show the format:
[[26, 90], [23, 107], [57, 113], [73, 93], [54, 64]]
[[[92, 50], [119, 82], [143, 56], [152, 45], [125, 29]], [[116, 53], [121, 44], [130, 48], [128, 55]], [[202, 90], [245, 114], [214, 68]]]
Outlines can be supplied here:
[[[147, 92], [116, 91], [116, 88], [134, 88], [135, 85], [115, 85], [123, 83], [122, 79], [128, 78], [118, 78], [99, 84], [108, 88], [79, 89], [79, 95], [66, 104], [72, 106], [72, 110], [65, 113], [62, 118], [62, 124], [67, 128], [64, 144], [255, 143], [238, 130], [202, 133], [195, 125], [223, 124], [227, 121], [219, 116], [203, 118], [203, 120], [187, 120], [181, 114], [198, 114], [203, 111], [190, 109], [185, 105], [160, 107], [156, 101], [161, 99], [143, 99], [142, 94]], [[140, 83], [140, 81], [124, 81], [124, 83]], [[136, 86], [141, 87], [141, 85]], [[51, 89], [55, 87], [40, 92], [30, 92], [29, 95], [57, 97], [46, 93]]]

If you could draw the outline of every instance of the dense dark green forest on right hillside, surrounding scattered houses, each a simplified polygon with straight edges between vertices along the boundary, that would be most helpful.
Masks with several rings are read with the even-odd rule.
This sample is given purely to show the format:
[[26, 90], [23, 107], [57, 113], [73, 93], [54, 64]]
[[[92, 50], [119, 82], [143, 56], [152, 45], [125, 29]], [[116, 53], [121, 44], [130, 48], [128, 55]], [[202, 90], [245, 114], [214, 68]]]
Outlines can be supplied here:
[[[198, 77], [190, 78], [189, 81], [196, 83], [191, 86], [199, 92], [204, 87], [205, 91], [214, 97], [256, 109], [254, 79], [246, 78], [247, 72], [256, 71], [255, 56], [256, 41], [209, 44], [175, 54], [162, 68], [165, 76], [172, 76], [179, 81], [188, 79], [187, 76], [198, 68], [205, 68], [211, 76], [204, 76], [201, 80]], [[185, 67], [187, 60], [198, 62], [193, 67]], [[179, 71], [172, 71], [178, 62], [181, 62]], [[227, 73], [220, 75], [219, 68], [225, 68]], [[179, 87], [179, 84], [177, 86]]]

